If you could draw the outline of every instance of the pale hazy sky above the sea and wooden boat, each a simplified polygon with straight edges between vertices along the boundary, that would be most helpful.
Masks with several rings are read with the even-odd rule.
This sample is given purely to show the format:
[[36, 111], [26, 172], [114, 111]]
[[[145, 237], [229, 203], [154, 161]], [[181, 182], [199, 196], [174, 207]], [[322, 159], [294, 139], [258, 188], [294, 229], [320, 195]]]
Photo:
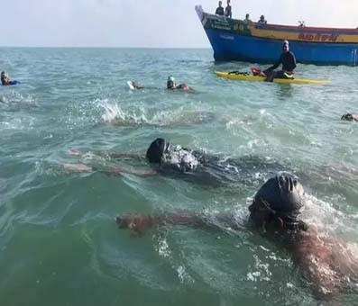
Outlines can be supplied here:
[[[0, 46], [209, 48], [195, 4], [209, 0], [0, 0]], [[225, 1], [223, 1], [225, 4]], [[232, 0], [233, 18], [268, 23], [358, 26], [357, 0]]]

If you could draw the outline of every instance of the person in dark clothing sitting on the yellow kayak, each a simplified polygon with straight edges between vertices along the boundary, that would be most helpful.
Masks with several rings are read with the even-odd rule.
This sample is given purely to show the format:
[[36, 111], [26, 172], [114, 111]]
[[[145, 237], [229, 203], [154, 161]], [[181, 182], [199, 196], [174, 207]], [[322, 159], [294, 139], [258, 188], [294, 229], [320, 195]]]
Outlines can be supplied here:
[[[282, 70], [274, 71], [277, 67], [282, 64]], [[264, 70], [263, 73], [266, 76], [266, 82], [272, 82], [274, 78], [293, 78], [292, 73], [296, 68], [295, 55], [289, 50], [289, 40], [283, 40], [282, 42], [282, 53], [279, 61]]]

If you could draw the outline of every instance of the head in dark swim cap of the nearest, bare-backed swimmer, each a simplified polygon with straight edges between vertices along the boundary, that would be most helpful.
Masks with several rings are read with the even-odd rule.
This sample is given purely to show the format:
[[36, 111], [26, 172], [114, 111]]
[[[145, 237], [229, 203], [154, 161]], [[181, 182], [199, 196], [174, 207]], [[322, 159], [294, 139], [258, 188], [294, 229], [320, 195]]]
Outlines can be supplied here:
[[250, 218], [259, 228], [306, 230], [308, 226], [298, 218], [305, 204], [304, 194], [302, 184], [292, 176], [271, 177], [255, 194]]

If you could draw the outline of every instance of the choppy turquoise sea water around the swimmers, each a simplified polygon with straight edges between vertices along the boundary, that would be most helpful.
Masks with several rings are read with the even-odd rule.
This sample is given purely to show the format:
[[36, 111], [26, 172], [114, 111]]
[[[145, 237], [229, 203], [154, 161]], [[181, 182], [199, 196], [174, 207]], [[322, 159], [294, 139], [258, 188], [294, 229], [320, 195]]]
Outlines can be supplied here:
[[[298, 175], [304, 218], [358, 242], [356, 67], [298, 65], [330, 85], [234, 82], [210, 49], [0, 49], [0, 298], [19, 305], [312, 305], [289, 254], [246, 232], [165, 227], [142, 238], [115, 216], [233, 211], [247, 218], [267, 174], [213, 187], [175, 177], [69, 173], [83, 162], [149, 170], [140, 161], [69, 157], [71, 148], [144, 152], [157, 137], [222, 157], [260, 156]], [[167, 76], [195, 93], [168, 92]], [[131, 91], [127, 80], [148, 89]], [[151, 88], [153, 87], [153, 88]], [[358, 247], [356, 247], [358, 249]], [[354, 287], [353, 284], [352, 287]], [[339, 297], [357, 303], [357, 292]]]

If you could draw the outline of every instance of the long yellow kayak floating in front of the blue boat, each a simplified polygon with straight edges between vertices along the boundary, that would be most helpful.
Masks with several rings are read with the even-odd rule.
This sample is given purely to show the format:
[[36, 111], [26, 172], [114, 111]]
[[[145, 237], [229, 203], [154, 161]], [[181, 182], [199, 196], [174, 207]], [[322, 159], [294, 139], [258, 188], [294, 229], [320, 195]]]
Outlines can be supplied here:
[[[248, 74], [237, 74], [229, 73], [224, 71], [216, 71], [216, 76], [221, 76], [225, 78], [230, 78], [231, 80], [239, 81], [250, 81], [250, 82], [264, 82], [265, 76], [252, 76]], [[274, 78], [273, 83], [280, 84], [316, 84], [316, 85], [325, 85], [329, 83], [327, 80], [312, 80], [308, 78]]]

